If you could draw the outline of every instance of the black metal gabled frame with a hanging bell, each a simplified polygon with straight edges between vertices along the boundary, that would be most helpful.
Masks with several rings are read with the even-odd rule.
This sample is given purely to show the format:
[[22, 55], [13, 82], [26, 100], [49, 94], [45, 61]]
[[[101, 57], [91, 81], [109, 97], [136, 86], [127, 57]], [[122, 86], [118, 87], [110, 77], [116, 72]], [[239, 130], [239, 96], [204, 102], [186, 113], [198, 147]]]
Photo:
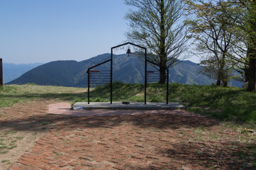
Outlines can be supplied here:
[[[90, 89], [89, 88], [90, 88], [91, 84], [103, 85], [104, 82], [106, 83], [106, 81], [109, 78], [109, 75], [108, 75], [109, 72], [110, 72], [110, 101], [111, 101], [111, 104], [112, 104], [112, 100], [113, 100], [113, 49], [121, 47], [121, 46], [124, 46], [124, 45], [134, 45], [135, 47], [139, 47], [139, 48], [142, 48], [143, 50], [145, 50], [144, 103], [147, 104], [147, 81], [148, 81], [148, 76], [152, 72], [152, 71], [148, 72], [148, 70], [147, 70], [147, 62], [150, 62], [147, 59], [147, 48], [141, 47], [140, 45], [135, 45], [132, 42], [126, 42], [126, 43], [123, 43], [121, 45], [117, 45], [117, 46], [111, 47], [111, 59], [110, 60], [106, 60], [105, 62], [101, 62], [101, 63], [96, 64], [95, 66], [89, 67], [87, 69], [87, 74], [88, 74], [88, 104], [90, 103]], [[130, 49], [128, 49], [128, 51], [129, 50]], [[110, 71], [108, 71], [108, 70], [91, 70], [91, 69], [94, 69], [95, 67], [100, 66], [101, 64], [105, 64], [106, 62], [111, 62]], [[154, 62], [150, 62], [150, 63], [160, 67], [159, 64], [156, 64]], [[167, 97], [166, 97], [166, 101], [167, 102], [166, 103], [168, 104], [168, 96], [169, 96], [169, 69], [168, 68], [165, 68], [165, 69], [167, 70]], [[97, 78], [98, 79], [106, 79], [106, 81], [102, 81], [102, 80], [101, 81], [93, 81], [93, 79], [97, 79]]]

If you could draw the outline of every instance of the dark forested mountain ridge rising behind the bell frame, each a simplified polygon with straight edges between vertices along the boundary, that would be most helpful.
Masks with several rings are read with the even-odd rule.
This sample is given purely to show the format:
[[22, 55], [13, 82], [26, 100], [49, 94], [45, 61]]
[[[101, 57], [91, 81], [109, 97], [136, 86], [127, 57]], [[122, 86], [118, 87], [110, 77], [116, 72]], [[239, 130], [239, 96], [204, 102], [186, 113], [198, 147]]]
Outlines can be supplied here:
[[[110, 59], [110, 54], [99, 55], [81, 62], [77, 61], [55, 61], [42, 64], [23, 74], [18, 79], [8, 84], [35, 83], [38, 85], [52, 86], [87, 86], [87, 69]], [[96, 69], [109, 70], [110, 62], [102, 64]], [[153, 70], [148, 64], [148, 70]], [[215, 84], [216, 80], [209, 79], [200, 74], [200, 66], [188, 60], [179, 62], [169, 68], [169, 82], [180, 84]], [[138, 57], [127, 57], [127, 55], [113, 55], [113, 81], [138, 84], [144, 82], [144, 62]], [[242, 86], [239, 81], [231, 81], [230, 86]]]

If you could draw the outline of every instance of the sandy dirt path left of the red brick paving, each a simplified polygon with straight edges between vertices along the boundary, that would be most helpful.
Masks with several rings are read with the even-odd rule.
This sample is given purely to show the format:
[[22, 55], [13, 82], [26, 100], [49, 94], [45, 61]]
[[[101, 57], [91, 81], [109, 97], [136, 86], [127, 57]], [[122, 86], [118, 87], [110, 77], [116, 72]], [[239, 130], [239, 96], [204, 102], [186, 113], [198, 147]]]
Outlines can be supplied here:
[[[0, 169], [6, 170], [23, 154], [30, 152], [35, 141], [43, 137], [52, 124], [40, 119], [46, 106], [55, 101], [25, 101], [0, 108]], [[52, 115], [48, 115], [52, 117]]]

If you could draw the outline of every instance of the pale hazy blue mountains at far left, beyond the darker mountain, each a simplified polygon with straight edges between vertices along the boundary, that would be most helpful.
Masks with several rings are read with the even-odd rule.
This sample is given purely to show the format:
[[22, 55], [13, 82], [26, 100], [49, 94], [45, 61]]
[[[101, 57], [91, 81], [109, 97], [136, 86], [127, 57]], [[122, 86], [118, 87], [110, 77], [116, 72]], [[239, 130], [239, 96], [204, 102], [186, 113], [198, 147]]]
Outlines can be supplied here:
[[12, 64], [12, 63], [3, 63], [3, 79], [4, 84], [17, 79], [22, 74], [28, 72], [30, 69], [38, 67], [43, 63], [33, 63], [33, 64]]

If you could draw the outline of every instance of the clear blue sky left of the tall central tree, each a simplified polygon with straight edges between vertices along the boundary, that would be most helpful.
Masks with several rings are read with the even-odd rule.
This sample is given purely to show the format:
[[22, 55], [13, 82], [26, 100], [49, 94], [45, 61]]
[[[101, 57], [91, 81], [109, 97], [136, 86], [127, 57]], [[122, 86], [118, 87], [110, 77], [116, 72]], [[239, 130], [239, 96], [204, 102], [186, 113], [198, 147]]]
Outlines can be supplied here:
[[126, 40], [129, 8], [123, 0], [0, 0], [0, 58], [45, 63], [110, 52]]

